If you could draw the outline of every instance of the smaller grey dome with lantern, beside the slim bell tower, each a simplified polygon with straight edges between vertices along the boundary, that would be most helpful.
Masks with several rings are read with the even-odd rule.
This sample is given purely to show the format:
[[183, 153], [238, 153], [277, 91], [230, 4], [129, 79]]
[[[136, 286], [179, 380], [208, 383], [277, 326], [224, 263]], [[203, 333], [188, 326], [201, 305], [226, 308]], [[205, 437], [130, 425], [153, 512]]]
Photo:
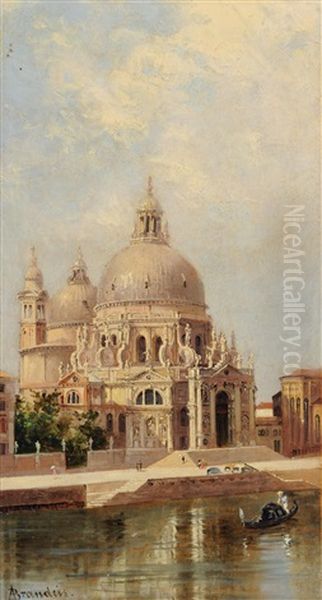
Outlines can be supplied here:
[[87, 276], [86, 263], [79, 250], [67, 285], [49, 302], [48, 322], [90, 322], [96, 304], [96, 293], [96, 287]]

